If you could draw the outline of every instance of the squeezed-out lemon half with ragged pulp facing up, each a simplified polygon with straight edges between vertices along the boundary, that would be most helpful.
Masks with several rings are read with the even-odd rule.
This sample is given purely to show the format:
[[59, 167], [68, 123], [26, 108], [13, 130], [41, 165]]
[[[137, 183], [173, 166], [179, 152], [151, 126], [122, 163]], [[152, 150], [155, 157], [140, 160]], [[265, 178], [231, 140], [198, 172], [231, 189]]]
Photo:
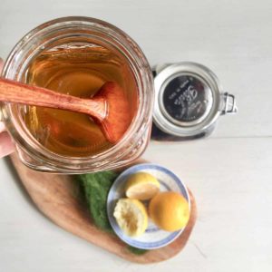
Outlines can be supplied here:
[[119, 199], [113, 212], [121, 230], [128, 236], [140, 236], [148, 227], [148, 214], [137, 199]]

